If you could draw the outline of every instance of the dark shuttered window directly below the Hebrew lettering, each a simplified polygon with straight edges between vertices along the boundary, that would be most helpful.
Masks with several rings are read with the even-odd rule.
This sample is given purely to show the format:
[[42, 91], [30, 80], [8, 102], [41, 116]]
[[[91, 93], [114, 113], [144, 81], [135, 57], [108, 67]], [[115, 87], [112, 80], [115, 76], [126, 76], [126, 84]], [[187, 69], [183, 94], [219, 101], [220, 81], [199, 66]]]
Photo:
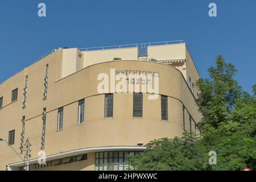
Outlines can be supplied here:
[[133, 94], [133, 117], [142, 118], [143, 111], [143, 94], [134, 93]]

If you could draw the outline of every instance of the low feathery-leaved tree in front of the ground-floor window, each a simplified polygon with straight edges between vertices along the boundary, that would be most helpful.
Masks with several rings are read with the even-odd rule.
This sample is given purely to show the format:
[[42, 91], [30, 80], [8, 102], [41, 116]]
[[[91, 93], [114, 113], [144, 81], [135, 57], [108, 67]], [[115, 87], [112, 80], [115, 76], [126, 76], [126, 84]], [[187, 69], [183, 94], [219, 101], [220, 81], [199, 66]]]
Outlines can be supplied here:
[[[207, 148], [195, 134], [159, 139], [147, 144], [147, 150], [130, 156], [129, 164], [137, 170], [205, 170], [208, 164]], [[134, 169], [134, 168], [133, 168]]]

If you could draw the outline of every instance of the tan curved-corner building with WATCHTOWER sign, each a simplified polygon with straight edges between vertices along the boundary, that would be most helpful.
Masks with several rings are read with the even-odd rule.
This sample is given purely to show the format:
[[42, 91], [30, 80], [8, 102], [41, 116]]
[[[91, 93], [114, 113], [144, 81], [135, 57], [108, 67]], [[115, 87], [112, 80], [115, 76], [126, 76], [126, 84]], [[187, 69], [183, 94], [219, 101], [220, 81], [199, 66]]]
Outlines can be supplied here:
[[[105, 93], [102, 74], [110, 79]], [[117, 75], [147, 78], [127, 78], [139, 92], [124, 92], [112, 89]], [[142, 90], [156, 86], [149, 76], [159, 81], [154, 99]], [[0, 138], [22, 158], [29, 138], [30, 169], [124, 170], [126, 155], [139, 154], [151, 140], [199, 132], [199, 77], [183, 41], [55, 49], [0, 85]], [[38, 163], [44, 152], [46, 164]], [[0, 169], [24, 169], [1, 141]]]

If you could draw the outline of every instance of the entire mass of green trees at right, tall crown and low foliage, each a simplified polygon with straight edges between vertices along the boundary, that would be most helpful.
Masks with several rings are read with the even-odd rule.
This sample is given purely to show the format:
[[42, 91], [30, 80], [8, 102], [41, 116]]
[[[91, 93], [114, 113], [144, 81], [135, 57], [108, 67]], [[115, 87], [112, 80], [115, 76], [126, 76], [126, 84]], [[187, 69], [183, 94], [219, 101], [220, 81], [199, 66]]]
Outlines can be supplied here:
[[[137, 170], [242, 170], [256, 169], [256, 85], [254, 95], [242, 92], [234, 80], [237, 70], [218, 56], [209, 68], [209, 79], [200, 78], [196, 103], [202, 114], [201, 135], [184, 133], [182, 138], [159, 139], [146, 151], [130, 156]], [[208, 163], [216, 151], [217, 164]]]

